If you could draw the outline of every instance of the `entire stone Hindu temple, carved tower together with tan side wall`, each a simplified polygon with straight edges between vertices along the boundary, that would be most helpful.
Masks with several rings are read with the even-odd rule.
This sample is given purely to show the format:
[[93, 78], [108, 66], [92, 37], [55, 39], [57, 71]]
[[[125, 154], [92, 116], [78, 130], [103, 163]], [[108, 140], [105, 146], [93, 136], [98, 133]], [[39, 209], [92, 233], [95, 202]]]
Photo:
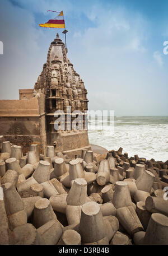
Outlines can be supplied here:
[[[46, 63], [34, 89], [19, 90], [19, 100], [0, 100], [0, 131], [6, 141], [24, 146], [54, 146], [55, 152], [74, 156], [90, 149], [87, 134], [87, 90], [57, 38], [49, 46]], [[56, 111], [56, 112], [55, 112]], [[54, 123], [62, 117], [64, 122]], [[73, 121], [78, 118], [78, 126]]]

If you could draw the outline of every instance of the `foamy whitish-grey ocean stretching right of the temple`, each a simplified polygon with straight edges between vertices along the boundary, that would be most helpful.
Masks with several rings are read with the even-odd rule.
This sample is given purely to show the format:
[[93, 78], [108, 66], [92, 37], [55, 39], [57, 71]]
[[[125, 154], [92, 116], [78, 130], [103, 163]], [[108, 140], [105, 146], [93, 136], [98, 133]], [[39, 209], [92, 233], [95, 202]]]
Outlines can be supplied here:
[[88, 137], [90, 143], [107, 150], [123, 147], [129, 157], [168, 160], [168, 117], [114, 117], [110, 122], [108, 117], [91, 119]]

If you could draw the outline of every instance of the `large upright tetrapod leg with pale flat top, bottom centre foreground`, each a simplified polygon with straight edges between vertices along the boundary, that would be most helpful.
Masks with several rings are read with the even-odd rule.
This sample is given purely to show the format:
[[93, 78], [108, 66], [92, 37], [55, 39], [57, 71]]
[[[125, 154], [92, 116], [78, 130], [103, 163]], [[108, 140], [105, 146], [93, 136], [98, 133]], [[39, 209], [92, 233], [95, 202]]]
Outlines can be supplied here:
[[88, 202], [83, 204], [80, 221], [82, 244], [94, 243], [106, 238], [106, 230], [99, 204]]

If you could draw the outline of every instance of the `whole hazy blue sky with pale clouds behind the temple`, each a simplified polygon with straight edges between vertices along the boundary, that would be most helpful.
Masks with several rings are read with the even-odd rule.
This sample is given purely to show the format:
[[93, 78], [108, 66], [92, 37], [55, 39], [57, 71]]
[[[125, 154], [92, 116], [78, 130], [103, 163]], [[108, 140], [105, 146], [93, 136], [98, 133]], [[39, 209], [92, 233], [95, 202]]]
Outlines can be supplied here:
[[0, 99], [31, 89], [63, 29], [39, 27], [64, 12], [68, 58], [88, 91], [89, 109], [168, 115], [168, 1], [1, 0]]

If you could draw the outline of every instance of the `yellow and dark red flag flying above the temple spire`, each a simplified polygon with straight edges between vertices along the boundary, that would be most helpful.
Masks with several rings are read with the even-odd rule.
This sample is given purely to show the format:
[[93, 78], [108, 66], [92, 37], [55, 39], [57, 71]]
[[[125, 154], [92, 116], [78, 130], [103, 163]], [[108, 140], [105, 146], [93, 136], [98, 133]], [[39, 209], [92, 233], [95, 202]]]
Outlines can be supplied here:
[[[48, 11], [48, 12], [55, 12], [55, 11]], [[40, 27], [54, 27], [56, 29], [64, 29], [65, 28], [65, 21], [63, 11], [59, 12], [59, 15], [53, 20], [49, 20], [45, 24], [39, 24]]]

